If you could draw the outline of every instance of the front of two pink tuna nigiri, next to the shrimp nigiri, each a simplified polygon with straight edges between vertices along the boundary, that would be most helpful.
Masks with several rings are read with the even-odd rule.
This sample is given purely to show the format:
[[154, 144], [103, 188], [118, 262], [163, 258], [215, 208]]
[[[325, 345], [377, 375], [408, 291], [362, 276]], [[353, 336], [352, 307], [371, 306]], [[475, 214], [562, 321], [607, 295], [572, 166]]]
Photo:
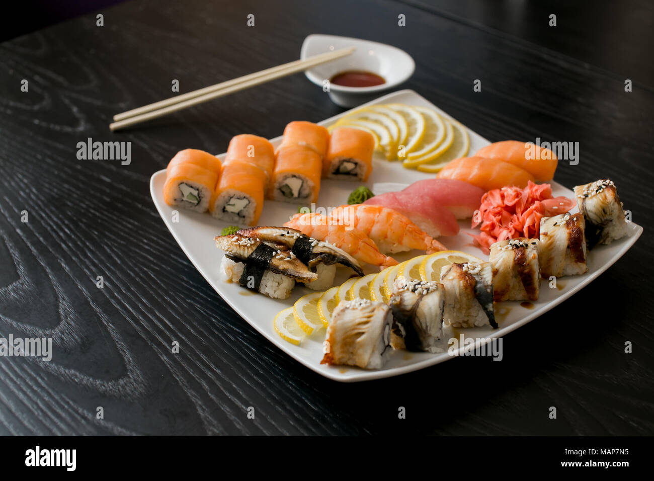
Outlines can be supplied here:
[[[411, 192], [387, 192], [374, 196], [364, 205], [379, 205], [388, 207], [404, 215], [432, 238], [440, 236], [456, 236], [458, 223], [453, 213], [443, 205], [439, 205], [427, 196]], [[477, 206], [478, 207], [478, 206]]]

